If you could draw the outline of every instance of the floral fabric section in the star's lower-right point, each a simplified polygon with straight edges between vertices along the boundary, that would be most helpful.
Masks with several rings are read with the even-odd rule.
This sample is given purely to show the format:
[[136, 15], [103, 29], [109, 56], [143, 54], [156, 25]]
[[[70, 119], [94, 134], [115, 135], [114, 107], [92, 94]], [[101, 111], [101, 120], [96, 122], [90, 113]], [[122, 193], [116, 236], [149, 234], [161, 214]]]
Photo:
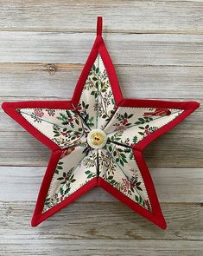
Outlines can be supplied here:
[[[148, 193], [143, 177], [137, 167], [132, 148], [125, 148], [108, 142], [105, 148], [98, 150], [99, 175], [131, 200], [151, 211]], [[111, 159], [111, 168], [106, 165], [106, 159]]]

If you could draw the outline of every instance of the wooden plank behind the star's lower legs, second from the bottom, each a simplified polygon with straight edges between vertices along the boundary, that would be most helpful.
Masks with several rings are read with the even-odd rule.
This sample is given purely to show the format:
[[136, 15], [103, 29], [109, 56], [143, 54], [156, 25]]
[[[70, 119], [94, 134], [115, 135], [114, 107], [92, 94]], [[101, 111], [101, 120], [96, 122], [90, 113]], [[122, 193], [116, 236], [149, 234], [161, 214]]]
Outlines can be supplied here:
[[[0, 201], [36, 200], [46, 167], [0, 167]], [[201, 203], [203, 168], [149, 168], [161, 202]], [[96, 187], [79, 201], [117, 201]]]

